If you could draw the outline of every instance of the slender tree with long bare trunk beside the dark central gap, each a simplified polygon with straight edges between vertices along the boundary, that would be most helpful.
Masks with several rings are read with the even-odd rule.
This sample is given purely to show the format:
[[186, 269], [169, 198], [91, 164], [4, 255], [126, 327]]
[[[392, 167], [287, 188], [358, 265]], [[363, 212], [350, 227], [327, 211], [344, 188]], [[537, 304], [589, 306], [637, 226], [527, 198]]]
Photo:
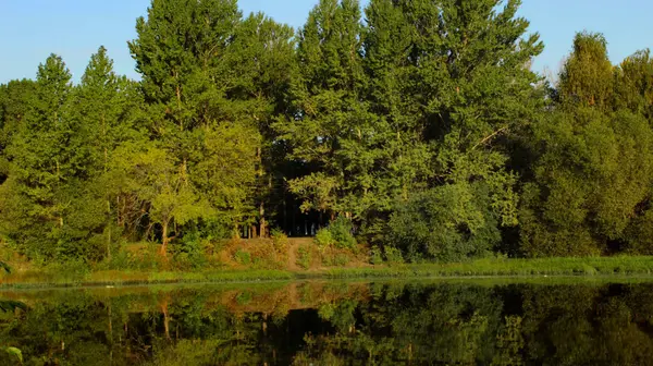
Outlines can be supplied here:
[[[258, 206], [258, 232], [269, 234], [275, 210], [285, 196], [285, 148], [279, 144], [272, 124], [289, 108], [287, 89], [296, 74], [294, 29], [279, 24], [262, 13], [250, 14], [239, 23], [230, 46], [230, 70], [238, 75], [227, 95], [244, 127], [258, 130], [261, 136], [256, 149], [257, 188], [251, 197]], [[243, 131], [246, 132], [246, 131]], [[255, 137], [256, 132], [249, 135]]]

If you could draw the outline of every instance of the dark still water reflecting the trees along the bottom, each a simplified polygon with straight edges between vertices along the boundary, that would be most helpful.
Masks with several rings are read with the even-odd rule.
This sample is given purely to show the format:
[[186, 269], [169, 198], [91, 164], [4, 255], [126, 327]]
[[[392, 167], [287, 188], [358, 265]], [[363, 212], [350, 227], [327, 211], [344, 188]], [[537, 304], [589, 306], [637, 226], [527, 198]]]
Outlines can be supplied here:
[[[653, 284], [5, 292], [25, 365], [653, 365]], [[0, 352], [0, 365], [20, 364]]]

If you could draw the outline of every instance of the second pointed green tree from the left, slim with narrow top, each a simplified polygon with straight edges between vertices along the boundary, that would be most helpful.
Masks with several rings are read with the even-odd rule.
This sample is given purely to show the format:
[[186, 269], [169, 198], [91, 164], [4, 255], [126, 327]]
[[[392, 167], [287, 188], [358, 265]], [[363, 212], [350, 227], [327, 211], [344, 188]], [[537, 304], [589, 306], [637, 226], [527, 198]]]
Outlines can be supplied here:
[[144, 119], [143, 98], [137, 91], [135, 82], [115, 74], [113, 60], [100, 47], [91, 56], [73, 95], [72, 118], [79, 125], [74, 138], [85, 161], [83, 183], [75, 187], [76, 220], [71, 224], [76, 235], [98, 252], [103, 247], [101, 253], [107, 257], [111, 257], [111, 247], [121, 229], [116, 228], [120, 195], [111, 181], [111, 160], [121, 144], [143, 139], [136, 129]]

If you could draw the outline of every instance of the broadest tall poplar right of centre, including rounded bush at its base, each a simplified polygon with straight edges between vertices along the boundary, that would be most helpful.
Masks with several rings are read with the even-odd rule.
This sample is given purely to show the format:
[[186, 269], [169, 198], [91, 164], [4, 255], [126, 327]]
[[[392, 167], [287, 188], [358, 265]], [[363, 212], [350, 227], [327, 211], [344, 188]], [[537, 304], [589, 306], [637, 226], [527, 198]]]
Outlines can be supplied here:
[[404, 170], [412, 175], [402, 179], [406, 194], [390, 221], [392, 241], [407, 252], [442, 260], [482, 256], [501, 242], [501, 227], [517, 223], [517, 179], [506, 168], [505, 142], [542, 106], [529, 65], [543, 48], [538, 35], [527, 35], [519, 5], [373, 0], [368, 7], [366, 57], [380, 84], [372, 96], [397, 132], [396, 150], [412, 151], [415, 161]]

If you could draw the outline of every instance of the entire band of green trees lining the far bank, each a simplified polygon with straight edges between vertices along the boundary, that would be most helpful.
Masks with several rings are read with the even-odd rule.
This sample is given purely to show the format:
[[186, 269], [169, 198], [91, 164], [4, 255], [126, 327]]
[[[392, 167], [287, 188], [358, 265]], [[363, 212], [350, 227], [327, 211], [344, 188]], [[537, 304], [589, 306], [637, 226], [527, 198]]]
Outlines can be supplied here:
[[[519, 0], [152, 0], [74, 84], [0, 86], [0, 242], [38, 261], [311, 235], [407, 260], [653, 253], [653, 59], [579, 33], [556, 85]], [[345, 233], [344, 236], [346, 236]]]

